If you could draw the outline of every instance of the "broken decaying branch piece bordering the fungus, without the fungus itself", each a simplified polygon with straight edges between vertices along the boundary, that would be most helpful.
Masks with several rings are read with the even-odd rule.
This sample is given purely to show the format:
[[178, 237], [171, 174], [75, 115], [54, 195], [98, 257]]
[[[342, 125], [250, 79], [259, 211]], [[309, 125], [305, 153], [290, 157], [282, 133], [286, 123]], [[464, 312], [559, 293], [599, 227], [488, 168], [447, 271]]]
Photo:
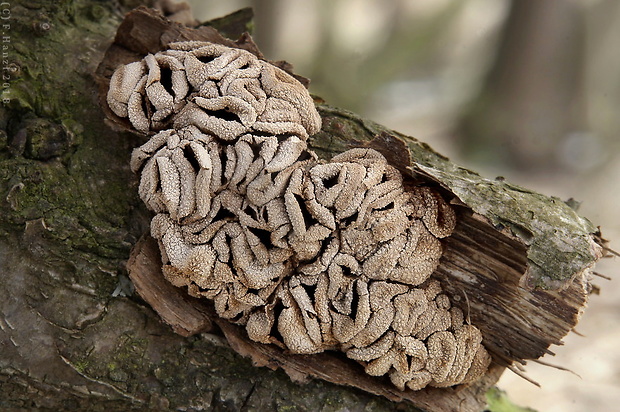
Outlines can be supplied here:
[[[146, 10], [137, 13], [148, 21]], [[175, 30], [181, 31], [184, 39], [195, 36], [190, 29], [175, 27]], [[135, 59], [141, 51], [131, 46], [131, 32], [120, 30], [119, 36], [121, 32], [123, 39], [119, 42], [117, 36], [117, 45], [122, 43], [122, 47], [129, 48]], [[141, 36], [144, 37], [145, 32], [146, 29], [140, 30]], [[156, 34], [156, 30], [150, 33], [151, 36]], [[198, 35], [196, 39], [201, 37]], [[230, 42], [226, 44], [231, 45]], [[162, 43], [159, 48], [164, 46]], [[150, 52], [157, 50], [149, 49]], [[115, 53], [117, 51], [108, 53], [101, 66], [105, 70], [100, 67], [100, 73], [109, 72], [114, 66]], [[413, 138], [341, 110], [324, 105], [318, 108], [324, 126], [310, 141], [317, 152], [329, 158], [352, 147], [373, 148], [404, 174], [405, 184], [407, 180], [411, 185], [424, 182], [440, 188], [452, 199], [457, 210], [457, 228], [445, 242], [441, 264], [433, 277], [463, 309], [468, 320], [482, 330], [484, 345], [493, 355], [494, 366], [485, 379], [456, 392], [441, 389], [398, 392], [378, 379], [360, 375], [357, 365], [337, 355], [321, 354], [310, 358], [287, 355], [276, 347], [252, 343], [236, 326], [217, 318], [213, 320], [234, 349], [250, 355], [257, 364], [280, 366], [293, 378], [320, 377], [394, 400], [409, 399], [422, 408], [440, 410], [449, 410], [448, 405], [454, 405], [449, 394], [458, 393], [471, 403], [468, 408], [479, 409], [484, 402], [479, 395], [495, 382], [503, 367], [548, 353], [549, 346], [561, 344], [562, 337], [577, 323], [587, 300], [590, 271], [602, 256], [596, 230], [558, 199], [502, 181], [485, 180], [456, 167]], [[351, 133], [351, 129], [358, 130]], [[159, 276], [136, 271], [131, 264], [129, 269], [132, 279]], [[149, 288], [138, 288], [138, 291], [145, 300], [154, 300]], [[158, 312], [173, 328], [179, 327], [169, 319], [165, 308]], [[338, 367], [323, 368], [324, 363]]]

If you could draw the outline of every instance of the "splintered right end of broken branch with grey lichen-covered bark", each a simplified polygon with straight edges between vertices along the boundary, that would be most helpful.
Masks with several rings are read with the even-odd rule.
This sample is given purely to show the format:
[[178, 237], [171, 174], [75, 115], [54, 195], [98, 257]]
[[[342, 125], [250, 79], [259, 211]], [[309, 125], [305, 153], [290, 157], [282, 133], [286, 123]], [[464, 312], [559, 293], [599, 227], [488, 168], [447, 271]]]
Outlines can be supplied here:
[[[394, 143], [379, 137], [385, 139]], [[376, 139], [369, 144], [385, 146]], [[466, 302], [496, 360], [537, 359], [562, 344], [585, 308], [592, 267], [603, 255], [597, 230], [557, 198], [460, 168], [437, 173], [435, 165], [404, 166], [438, 179], [461, 204], [436, 276]]]

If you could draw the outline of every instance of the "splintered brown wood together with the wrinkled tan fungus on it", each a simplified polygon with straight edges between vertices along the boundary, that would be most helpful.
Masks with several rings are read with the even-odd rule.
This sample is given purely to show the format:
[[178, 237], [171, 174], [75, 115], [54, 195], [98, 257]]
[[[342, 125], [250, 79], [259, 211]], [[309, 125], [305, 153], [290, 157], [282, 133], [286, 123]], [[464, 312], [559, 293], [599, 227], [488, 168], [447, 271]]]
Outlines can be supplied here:
[[131, 167], [161, 251], [136, 245], [138, 293], [177, 332], [212, 321], [233, 349], [293, 378], [481, 409], [504, 367], [576, 324], [601, 256], [594, 230], [582, 234], [590, 258], [545, 287], [535, 228], [519, 236], [529, 223], [502, 216], [492, 190], [463, 192], [491, 182], [350, 113], [317, 112], [280, 67], [247, 36], [146, 9], [119, 28], [99, 68], [104, 106], [149, 136]]

